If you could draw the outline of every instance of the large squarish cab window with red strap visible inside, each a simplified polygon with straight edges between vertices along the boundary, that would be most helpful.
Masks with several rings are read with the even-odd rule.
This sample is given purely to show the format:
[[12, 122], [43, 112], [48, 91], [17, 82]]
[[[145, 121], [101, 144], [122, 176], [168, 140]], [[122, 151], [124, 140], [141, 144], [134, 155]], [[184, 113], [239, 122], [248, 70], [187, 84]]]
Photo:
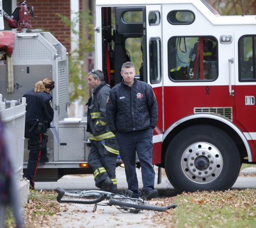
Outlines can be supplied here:
[[218, 77], [218, 40], [207, 37], [171, 37], [168, 72], [173, 81], [214, 81]]

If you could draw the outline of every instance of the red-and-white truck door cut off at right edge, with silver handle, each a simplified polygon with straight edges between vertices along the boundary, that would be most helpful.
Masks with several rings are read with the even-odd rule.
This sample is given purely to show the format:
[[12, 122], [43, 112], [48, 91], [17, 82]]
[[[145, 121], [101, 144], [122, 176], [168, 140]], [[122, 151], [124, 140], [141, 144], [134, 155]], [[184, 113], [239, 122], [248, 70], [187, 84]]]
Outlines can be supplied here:
[[[251, 31], [247, 34], [251, 34]], [[251, 149], [256, 151], [256, 35], [237, 32], [236, 119], [243, 126]], [[236, 63], [236, 61], [234, 61]]]

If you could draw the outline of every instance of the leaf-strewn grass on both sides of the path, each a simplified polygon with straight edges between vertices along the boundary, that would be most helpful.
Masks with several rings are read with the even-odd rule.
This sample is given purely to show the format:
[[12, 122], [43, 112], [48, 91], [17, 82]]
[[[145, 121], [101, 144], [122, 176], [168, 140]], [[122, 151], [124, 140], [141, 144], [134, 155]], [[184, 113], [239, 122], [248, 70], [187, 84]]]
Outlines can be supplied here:
[[[56, 195], [53, 191], [30, 191], [23, 212], [25, 227], [61, 227], [54, 218], [67, 208], [60, 207]], [[182, 193], [159, 198], [158, 203], [179, 205], [152, 217], [154, 224], [165, 227], [255, 227], [256, 224], [256, 189]], [[6, 227], [14, 227], [11, 213]]]

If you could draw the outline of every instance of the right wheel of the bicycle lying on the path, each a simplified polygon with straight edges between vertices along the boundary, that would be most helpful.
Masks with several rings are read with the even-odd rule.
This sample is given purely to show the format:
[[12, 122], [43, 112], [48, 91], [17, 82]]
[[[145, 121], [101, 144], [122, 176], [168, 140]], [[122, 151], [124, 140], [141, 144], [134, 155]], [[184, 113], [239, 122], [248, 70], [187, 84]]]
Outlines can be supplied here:
[[176, 204], [172, 204], [169, 206], [158, 206], [158, 205], [154, 205], [154, 204], [149, 204], [149, 203], [145, 203], [145, 202], [140, 202], [137, 201], [137, 199], [114, 199], [111, 198], [109, 200], [111, 205], [114, 206], [120, 206], [121, 208], [134, 208], [134, 209], [139, 209], [139, 210], [147, 210], [147, 211], [166, 211], [170, 208], [176, 208], [177, 205]]

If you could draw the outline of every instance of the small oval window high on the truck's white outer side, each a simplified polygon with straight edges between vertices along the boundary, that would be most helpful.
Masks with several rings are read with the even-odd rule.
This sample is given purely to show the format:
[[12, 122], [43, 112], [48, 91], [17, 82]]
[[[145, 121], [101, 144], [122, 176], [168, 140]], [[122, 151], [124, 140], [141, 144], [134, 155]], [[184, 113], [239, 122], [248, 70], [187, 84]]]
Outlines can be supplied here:
[[172, 25], [190, 25], [195, 18], [195, 14], [190, 10], [173, 10], [167, 14], [167, 20]]

